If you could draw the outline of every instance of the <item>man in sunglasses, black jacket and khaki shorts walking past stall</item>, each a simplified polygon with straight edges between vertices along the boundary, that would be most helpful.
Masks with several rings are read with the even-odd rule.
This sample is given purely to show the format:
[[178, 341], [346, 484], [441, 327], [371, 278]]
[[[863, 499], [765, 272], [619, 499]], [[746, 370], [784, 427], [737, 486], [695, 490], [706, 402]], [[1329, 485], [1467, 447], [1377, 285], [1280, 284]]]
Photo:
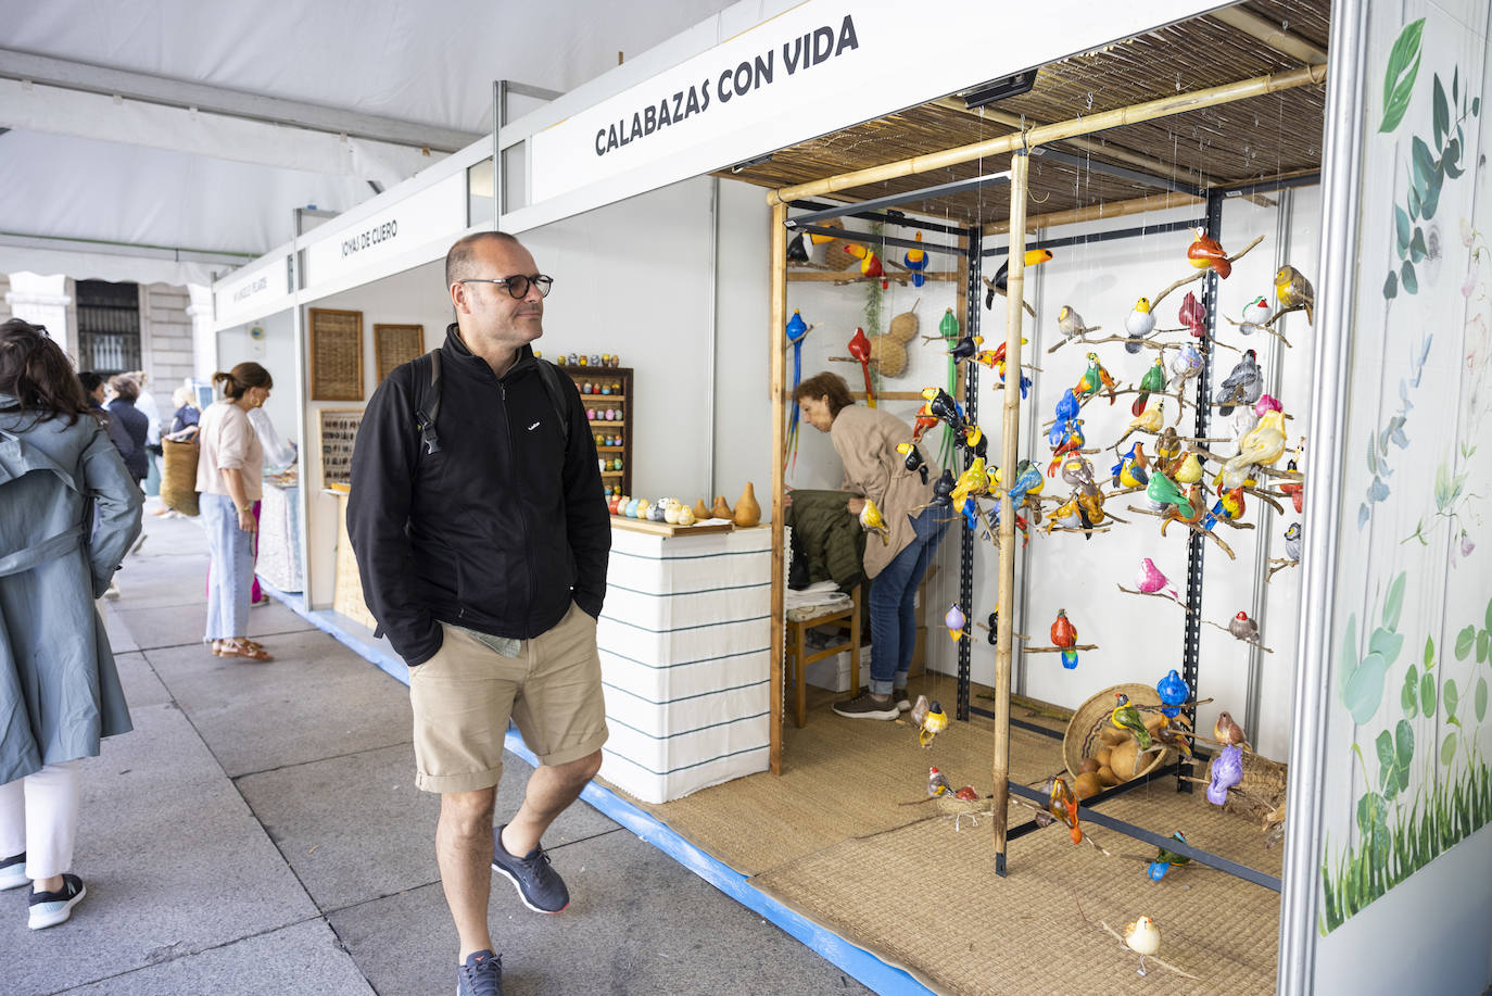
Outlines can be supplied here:
[[[415, 784], [440, 793], [436, 859], [463, 996], [503, 986], [492, 871], [530, 909], [568, 905], [539, 841], [600, 769], [607, 733], [595, 620], [612, 527], [579, 391], [530, 346], [549, 285], [509, 234], [451, 246], [457, 321], [436, 354], [436, 423], [416, 429], [416, 409], [437, 411], [427, 357], [379, 385], [352, 452], [348, 535], [369, 608], [409, 664]], [[539, 768], [494, 829], [509, 718]]]

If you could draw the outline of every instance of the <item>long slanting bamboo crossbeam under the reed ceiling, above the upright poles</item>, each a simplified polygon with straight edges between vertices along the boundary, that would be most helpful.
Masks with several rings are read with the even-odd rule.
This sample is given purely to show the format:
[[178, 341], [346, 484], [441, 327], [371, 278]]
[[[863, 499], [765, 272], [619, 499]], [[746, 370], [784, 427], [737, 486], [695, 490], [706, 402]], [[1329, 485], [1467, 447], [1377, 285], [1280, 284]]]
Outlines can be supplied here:
[[[1089, 115], [1086, 118], [1074, 118], [1071, 121], [1059, 121], [1056, 124], [1043, 124], [1028, 130], [1024, 136], [1006, 134], [995, 139], [986, 139], [983, 142], [959, 145], [940, 152], [913, 155], [912, 158], [898, 160], [895, 163], [882, 163], [880, 166], [870, 166], [867, 169], [840, 173], [839, 176], [828, 176], [807, 184], [780, 187], [768, 191], [767, 203], [786, 205], [788, 202], [803, 200], [806, 197], [824, 197], [841, 190], [853, 190], [868, 184], [882, 184], [888, 179], [930, 173], [932, 170], [947, 169], [950, 166], [959, 166], [962, 163], [971, 163], [992, 155], [1016, 152], [1024, 148], [1071, 139], [1080, 134], [1094, 134], [1095, 131], [1118, 128], [1126, 124], [1140, 124], [1143, 121], [1153, 121], [1173, 113], [1214, 108], [1217, 105], [1232, 103], [1234, 100], [1262, 97], [1282, 90], [1294, 90], [1295, 87], [1317, 85], [1325, 82], [1325, 66], [1303, 66], [1301, 69], [1291, 69], [1270, 76], [1241, 79], [1238, 82], [1223, 84], [1222, 87], [1209, 87], [1206, 90], [1183, 94], [1168, 94], [1158, 100], [1147, 100], [1129, 108], [1116, 108], [1113, 111]], [[1022, 212], [1021, 224], [1025, 224], [1025, 212]]]

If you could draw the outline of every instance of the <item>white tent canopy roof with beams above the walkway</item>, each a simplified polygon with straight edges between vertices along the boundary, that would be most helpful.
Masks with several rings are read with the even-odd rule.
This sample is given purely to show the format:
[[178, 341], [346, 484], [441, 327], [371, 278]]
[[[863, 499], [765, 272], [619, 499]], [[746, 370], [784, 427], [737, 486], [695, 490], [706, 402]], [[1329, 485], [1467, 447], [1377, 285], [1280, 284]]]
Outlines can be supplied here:
[[725, 0], [0, 0], [0, 273], [207, 282]]

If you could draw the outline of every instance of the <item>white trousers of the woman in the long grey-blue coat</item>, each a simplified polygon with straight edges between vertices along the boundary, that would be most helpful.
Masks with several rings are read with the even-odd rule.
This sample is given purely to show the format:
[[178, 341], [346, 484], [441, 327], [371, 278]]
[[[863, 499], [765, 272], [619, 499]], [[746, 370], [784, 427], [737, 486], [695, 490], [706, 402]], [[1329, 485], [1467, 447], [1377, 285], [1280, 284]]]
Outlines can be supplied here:
[[79, 785], [78, 762], [48, 765], [0, 785], [0, 857], [25, 851], [31, 881], [72, 871]]

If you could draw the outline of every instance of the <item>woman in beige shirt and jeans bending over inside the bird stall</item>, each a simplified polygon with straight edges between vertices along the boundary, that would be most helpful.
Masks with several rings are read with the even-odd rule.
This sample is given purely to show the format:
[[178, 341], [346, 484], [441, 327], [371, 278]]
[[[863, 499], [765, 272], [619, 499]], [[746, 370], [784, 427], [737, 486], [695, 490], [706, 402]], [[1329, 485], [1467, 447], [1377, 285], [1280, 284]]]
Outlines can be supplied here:
[[[916, 594], [947, 523], [932, 506], [932, 485], [907, 470], [897, 445], [912, 441], [912, 426], [879, 408], [861, 408], [837, 373], [819, 373], [792, 391], [803, 420], [827, 432], [844, 464], [846, 490], [861, 497], [846, 505], [859, 515], [870, 499], [886, 523], [886, 542], [865, 541], [870, 578], [870, 688], [834, 711], [855, 720], [894, 720], [912, 708], [907, 670], [916, 650]], [[934, 469], [935, 473], [935, 469]]]

